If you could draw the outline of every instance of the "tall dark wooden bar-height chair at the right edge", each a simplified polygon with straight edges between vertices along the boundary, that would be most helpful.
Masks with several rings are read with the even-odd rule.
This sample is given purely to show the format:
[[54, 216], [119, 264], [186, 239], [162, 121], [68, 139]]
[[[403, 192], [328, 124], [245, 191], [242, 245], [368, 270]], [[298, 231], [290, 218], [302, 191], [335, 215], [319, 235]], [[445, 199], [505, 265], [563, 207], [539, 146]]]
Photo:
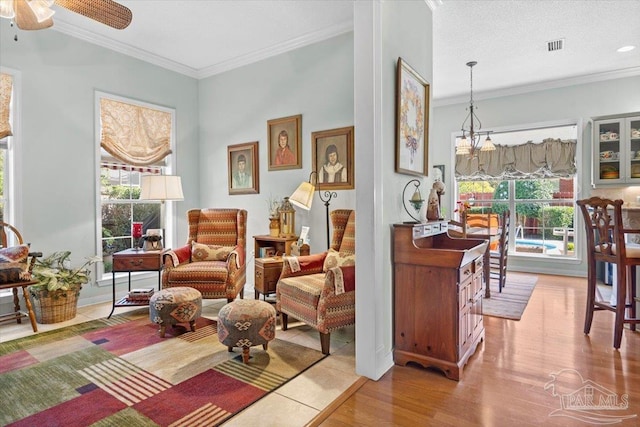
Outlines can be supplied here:
[[[625, 229], [622, 223], [622, 200], [591, 197], [576, 201], [582, 211], [587, 233], [587, 310], [584, 333], [589, 334], [594, 311], [615, 313], [613, 347], [620, 348], [624, 324], [632, 331], [640, 319], [636, 316], [636, 266], [640, 265], [640, 245], [626, 242], [627, 235], [640, 234], [640, 230]], [[616, 301], [596, 299], [598, 280], [596, 262], [609, 262], [616, 267], [617, 280], [613, 283]]]

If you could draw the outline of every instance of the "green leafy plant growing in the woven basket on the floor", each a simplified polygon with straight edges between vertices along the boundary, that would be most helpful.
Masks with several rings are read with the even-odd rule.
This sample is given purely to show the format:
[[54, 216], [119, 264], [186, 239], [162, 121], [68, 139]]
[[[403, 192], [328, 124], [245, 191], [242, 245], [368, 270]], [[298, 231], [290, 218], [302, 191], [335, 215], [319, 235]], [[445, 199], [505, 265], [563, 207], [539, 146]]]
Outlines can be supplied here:
[[33, 277], [40, 283], [32, 285], [35, 291], [69, 290], [70, 288], [88, 283], [91, 272], [87, 267], [100, 261], [98, 257], [87, 258], [85, 263], [75, 269], [69, 267], [70, 251], [54, 252], [46, 258], [38, 258], [33, 267]]

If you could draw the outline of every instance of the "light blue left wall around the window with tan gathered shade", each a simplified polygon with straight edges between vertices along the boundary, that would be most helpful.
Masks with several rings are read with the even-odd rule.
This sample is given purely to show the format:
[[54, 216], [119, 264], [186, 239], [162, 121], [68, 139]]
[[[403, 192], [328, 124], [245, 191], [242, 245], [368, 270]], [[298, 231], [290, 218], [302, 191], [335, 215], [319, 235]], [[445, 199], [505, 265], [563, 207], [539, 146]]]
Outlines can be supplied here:
[[[197, 81], [58, 31], [19, 31], [17, 42], [14, 34], [0, 19], [0, 65], [22, 81], [16, 133], [23, 167], [16, 180], [20, 230], [32, 248], [45, 255], [70, 250], [74, 265], [96, 253], [96, 90], [177, 110], [176, 173], [185, 193], [177, 228], [184, 242], [184, 212], [200, 197]], [[85, 285], [80, 304], [109, 300], [110, 283]]]

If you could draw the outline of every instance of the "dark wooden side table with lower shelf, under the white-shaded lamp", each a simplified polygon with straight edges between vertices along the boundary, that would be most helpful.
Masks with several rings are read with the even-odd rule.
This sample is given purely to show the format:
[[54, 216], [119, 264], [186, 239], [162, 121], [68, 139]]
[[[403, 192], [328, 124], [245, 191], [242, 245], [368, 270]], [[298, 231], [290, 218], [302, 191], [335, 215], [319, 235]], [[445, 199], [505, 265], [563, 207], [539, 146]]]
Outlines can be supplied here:
[[131, 290], [131, 273], [138, 271], [157, 271], [158, 290], [161, 286], [162, 251], [143, 251], [141, 249], [125, 249], [113, 254], [113, 268], [111, 269], [111, 286], [113, 291], [113, 307], [107, 319], [111, 317], [116, 307], [133, 307], [149, 305], [148, 301], [128, 301], [121, 298], [116, 301], [116, 273], [129, 273], [129, 290]]

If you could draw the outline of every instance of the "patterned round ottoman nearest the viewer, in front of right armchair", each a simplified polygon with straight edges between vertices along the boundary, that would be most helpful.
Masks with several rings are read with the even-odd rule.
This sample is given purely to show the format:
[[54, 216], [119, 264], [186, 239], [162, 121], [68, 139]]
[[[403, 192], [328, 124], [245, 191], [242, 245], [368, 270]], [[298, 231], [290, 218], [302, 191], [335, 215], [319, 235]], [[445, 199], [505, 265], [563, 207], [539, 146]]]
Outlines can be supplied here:
[[265, 350], [276, 335], [276, 309], [260, 300], [239, 299], [218, 312], [218, 339], [233, 351], [242, 348], [242, 361], [249, 363], [249, 348], [262, 344]]

